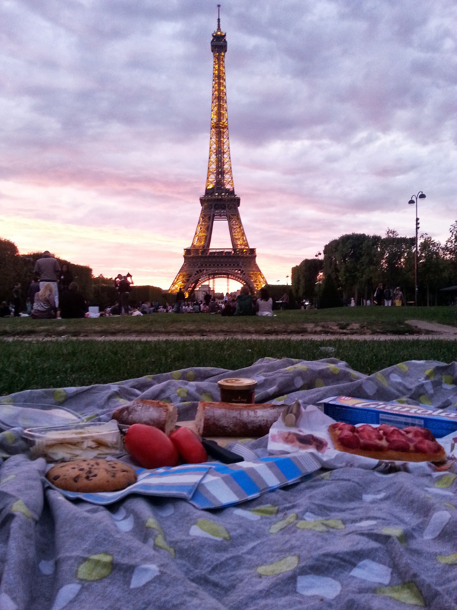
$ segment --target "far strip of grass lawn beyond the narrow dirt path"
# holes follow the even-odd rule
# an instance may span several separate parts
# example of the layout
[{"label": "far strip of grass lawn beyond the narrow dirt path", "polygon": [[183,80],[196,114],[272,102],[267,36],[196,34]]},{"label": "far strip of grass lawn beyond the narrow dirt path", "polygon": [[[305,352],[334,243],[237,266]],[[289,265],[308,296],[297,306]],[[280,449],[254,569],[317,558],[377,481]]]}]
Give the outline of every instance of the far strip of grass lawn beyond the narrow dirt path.
[{"label": "far strip of grass lawn beyond the narrow dirt path", "polygon": [[113,336],[169,334],[344,334],[417,333],[405,320],[426,320],[457,326],[457,307],[336,307],[278,311],[277,317],[222,318],[214,314],[152,314],[83,320],[0,318],[0,337],[7,336]]}]

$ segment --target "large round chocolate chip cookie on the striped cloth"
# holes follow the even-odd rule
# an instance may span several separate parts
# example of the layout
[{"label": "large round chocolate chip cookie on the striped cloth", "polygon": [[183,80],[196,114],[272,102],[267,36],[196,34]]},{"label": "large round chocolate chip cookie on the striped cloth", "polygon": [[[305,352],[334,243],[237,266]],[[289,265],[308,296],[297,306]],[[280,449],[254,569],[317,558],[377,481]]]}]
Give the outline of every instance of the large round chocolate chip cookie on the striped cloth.
[{"label": "large round chocolate chip cookie on the striped cloth", "polygon": [[49,468],[46,478],[68,492],[115,492],[136,483],[136,472],[115,460],[76,459]]}]

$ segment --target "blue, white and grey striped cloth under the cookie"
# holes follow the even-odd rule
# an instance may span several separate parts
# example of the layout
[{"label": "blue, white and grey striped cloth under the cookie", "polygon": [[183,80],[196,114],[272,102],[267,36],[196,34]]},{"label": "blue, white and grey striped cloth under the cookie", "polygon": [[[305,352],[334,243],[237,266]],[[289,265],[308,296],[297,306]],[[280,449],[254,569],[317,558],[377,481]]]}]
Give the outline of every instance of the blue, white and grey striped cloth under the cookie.
[{"label": "blue, white and grey striped cloth under the cookie", "polygon": [[[255,454],[254,454],[255,456]],[[319,470],[321,464],[304,451],[276,458],[261,458],[237,464],[185,464],[182,466],[136,470],[138,480],[118,492],[80,493],[58,489],[45,479],[48,487],[69,500],[91,504],[112,504],[130,493],[183,498],[200,509],[222,508],[257,498],[262,493],[300,481]]]}]

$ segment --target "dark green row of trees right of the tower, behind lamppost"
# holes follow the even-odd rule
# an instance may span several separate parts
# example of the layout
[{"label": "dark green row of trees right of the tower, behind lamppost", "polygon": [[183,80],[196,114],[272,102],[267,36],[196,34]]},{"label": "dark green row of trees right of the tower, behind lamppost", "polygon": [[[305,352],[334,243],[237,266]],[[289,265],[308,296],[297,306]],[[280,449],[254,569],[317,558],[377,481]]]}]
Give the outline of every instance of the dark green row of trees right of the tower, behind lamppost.
[{"label": "dark green row of trees right of the tower, behind lamppost", "polygon": [[[382,283],[384,288],[400,286],[405,300],[414,301],[414,242],[391,229],[385,237],[342,235],[327,243],[324,260],[305,259],[292,268],[292,290],[299,300],[313,303],[324,296],[321,307],[338,306],[351,298],[357,304],[363,299],[372,301]],[[420,236],[417,275],[420,305],[448,302],[449,297],[439,290],[457,284],[457,221],[445,245],[427,233]]]}]

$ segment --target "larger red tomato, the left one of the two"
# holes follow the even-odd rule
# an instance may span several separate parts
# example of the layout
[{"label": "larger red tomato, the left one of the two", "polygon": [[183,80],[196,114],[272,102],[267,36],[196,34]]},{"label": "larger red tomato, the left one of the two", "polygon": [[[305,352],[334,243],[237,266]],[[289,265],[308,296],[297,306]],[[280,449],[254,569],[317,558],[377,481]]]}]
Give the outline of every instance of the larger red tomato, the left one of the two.
[{"label": "larger red tomato, the left one of the two", "polygon": [[143,468],[175,466],[178,452],[171,440],[158,428],[134,423],[124,439],[127,451]]}]

